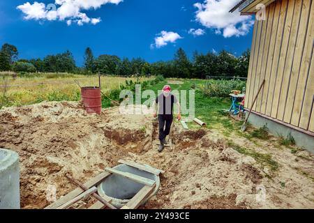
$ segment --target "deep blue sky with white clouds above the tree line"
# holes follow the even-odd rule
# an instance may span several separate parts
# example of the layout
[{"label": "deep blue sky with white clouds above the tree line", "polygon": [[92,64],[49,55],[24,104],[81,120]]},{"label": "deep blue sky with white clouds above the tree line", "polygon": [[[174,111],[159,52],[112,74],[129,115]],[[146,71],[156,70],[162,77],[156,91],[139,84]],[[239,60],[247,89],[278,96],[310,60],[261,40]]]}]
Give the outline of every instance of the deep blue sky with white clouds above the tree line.
[{"label": "deep blue sky with white clouds above the tree line", "polygon": [[[72,7],[66,5],[70,0],[37,1],[45,7],[56,3],[57,10]],[[253,18],[227,13],[239,0],[222,0],[223,5],[216,0],[91,0],[94,6],[74,1],[77,5],[83,1],[82,7],[75,5],[80,14],[65,8],[60,9],[62,15],[47,20],[47,11],[32,10],[34,1],[27,5],[27,0],[0,0],[0,45],[17,46],[20,59],[43,58],[69,49],[78,66],[82,66],[86,47],[95,56],[142,57],[149,62],[172,59],[179,47],[190,57],[195,50],[227,49],[239,55],[251,47]],[[156,44],[158,36],[161,45]]]}]

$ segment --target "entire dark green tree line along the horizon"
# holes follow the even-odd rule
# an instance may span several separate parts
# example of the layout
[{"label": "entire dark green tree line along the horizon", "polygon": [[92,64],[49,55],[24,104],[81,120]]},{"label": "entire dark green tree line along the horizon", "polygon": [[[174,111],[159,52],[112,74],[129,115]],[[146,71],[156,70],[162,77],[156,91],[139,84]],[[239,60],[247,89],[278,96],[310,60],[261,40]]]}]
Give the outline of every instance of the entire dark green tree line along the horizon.
[{"label": "entire dark green tree line along the horizon", "polygon": [[149,63],[141,58],[121,59],[119,56],[103,54],[95,57],[91,48],[84,52],[84,66],[75,65],[73,54],[47,55],[43,59],[18,59],[14,45],[4,44],[0,50],[0,70],[15,72],[71,72],[82,75],[103,74],[129,77],[132,75],[163,75],[163,77],[200,78],[206,76],[247,77],[250,51],[234,56],[226,50],[218,54],[194,52],[189,59],[184,49],[179,48],[170,61]]}]

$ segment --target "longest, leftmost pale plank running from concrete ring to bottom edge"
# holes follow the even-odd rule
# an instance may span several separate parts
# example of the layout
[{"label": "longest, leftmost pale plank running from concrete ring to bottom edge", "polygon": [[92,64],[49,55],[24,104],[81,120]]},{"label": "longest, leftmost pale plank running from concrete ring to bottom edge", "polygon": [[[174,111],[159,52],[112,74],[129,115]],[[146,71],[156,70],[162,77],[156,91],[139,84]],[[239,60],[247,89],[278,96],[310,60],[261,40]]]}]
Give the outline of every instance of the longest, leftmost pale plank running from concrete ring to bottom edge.
[{"label": "longest, leftmost pale plank running from concrete ring to bottom edge", "polygon": [[[103,171],[101,174],[98,174],[94,178],[91,178],[91,180],[87,181],[87,183],[84,183],[84,186],[90,188],[98,185],[100,181],[105,179],[107,176],[110,176],[110,173]],[[63,203],[66,203],[70,201],[71,199],[77,197],[78,195],[82,194],[84,190],[82,188],[77,187],[75,190],[71,191],[70,193],[66,194],[65,196],[61,197],[59,200],[55,201],[54,203],[51,203],[49,206],[45,207],[45,209],[56,209],[59,206],[61,206]]]}]

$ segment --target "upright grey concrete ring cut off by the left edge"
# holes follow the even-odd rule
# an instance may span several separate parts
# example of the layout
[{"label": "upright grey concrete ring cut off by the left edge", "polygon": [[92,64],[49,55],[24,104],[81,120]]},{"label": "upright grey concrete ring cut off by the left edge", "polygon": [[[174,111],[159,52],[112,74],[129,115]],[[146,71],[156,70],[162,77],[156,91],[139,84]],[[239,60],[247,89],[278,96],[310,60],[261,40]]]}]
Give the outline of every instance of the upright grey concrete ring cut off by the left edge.
[{"label": "upright grey concrete ring cut off by the left edge", "polygon": [[19,155],[0,148],[0,209],[20,209]]}]

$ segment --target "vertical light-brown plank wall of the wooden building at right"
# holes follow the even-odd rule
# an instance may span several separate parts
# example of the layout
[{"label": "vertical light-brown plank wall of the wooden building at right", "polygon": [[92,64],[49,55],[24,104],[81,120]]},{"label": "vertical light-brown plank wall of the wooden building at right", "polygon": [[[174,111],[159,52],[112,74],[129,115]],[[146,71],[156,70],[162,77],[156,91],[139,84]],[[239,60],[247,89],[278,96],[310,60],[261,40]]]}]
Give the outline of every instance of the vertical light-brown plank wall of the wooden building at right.
[{"label": "vertical light-brown plank wall of the wooden building at right", "polygon": [[314,132],[314,0],[277,0],[255,20],[246,108]]}]

